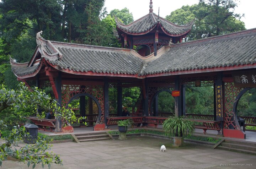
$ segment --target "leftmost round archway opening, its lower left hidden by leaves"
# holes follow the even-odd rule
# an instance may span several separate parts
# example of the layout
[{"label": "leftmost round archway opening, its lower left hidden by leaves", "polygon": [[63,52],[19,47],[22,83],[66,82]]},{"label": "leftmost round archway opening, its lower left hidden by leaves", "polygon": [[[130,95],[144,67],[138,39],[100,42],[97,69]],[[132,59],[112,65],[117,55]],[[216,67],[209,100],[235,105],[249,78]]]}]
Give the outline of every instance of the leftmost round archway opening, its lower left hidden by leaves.
[{"label": "leftmost round archway opening, its lower left hidden by leaves", "polygon": [[70,98],[69,102],[66,105],[66,108],[69,108],[70,104],[76,114],[87,117],[86,121],[88,125],[93,126],[100,121],[100,103],[91,94],[76,94],[75,96]]}]

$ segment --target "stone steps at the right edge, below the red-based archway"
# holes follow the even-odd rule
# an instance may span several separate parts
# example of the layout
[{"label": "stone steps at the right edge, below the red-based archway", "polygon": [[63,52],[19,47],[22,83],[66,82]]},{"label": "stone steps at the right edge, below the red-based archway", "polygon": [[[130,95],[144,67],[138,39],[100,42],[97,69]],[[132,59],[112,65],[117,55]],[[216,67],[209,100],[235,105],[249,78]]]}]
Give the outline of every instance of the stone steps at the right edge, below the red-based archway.
[{"label": "stone steps at the right edge, below the red-based archway", "polygon": [[217,148],[256,155],[256,142],[225,140]]}]

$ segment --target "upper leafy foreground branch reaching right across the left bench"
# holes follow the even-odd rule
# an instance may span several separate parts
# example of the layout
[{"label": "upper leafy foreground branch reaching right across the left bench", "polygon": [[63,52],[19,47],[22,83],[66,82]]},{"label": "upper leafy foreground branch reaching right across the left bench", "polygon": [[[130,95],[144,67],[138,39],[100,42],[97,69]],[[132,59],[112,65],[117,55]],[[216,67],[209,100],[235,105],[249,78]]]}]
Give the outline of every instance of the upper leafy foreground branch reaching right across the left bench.
[{"label": "upper leafy foreground branch reaching right across the left bench", "polygon": [[[0,86],[0,113],[5,109],[16,111],[21,118],[24,118],[24,109],[29,110],[31,115],[38,118],[44,118],[45,112],[52,111],[55,116],[65,119],[68,124],[84,119],[84,117],[76,118],[71,109],[60,107],[56,100],[51,99],[38,87],[29,89],[24,83],[18,84],[16,90],[8,89],[4,85]],[[38,109],[43,112],[37,113]]]}]

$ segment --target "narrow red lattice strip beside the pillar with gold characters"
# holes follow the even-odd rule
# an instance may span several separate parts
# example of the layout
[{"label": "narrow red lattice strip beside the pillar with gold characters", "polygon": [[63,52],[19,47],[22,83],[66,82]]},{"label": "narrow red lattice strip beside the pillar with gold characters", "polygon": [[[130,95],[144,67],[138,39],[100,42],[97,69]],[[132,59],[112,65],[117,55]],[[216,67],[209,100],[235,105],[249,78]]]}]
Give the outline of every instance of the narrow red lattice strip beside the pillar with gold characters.
[{"label": "narrow red lattice strip beside the pillar with gold characters", "polygon": [[241,88],[236,88],[234,83],[226,83],[225,84],[225,110],[224,110],[224,129],[234,128],[239,130],[238,125],[234,121],[234,112],[233,105],[235,102],[235,98],[241,91]]}]

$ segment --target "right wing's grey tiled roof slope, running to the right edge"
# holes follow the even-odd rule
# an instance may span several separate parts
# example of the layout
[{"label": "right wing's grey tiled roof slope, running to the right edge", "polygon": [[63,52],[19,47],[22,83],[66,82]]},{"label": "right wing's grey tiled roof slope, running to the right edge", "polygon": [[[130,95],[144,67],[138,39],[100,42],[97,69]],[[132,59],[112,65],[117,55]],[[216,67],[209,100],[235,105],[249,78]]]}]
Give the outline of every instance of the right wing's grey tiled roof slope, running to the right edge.
[{"label": "right wing's grey tiled roof slope, running to the right edge", "polygon": [[144,74],[206,69],[256,62],[256,31],[174,44],[147,64]]}]

